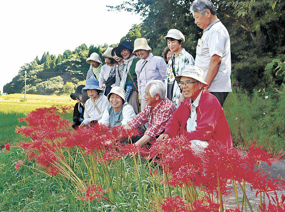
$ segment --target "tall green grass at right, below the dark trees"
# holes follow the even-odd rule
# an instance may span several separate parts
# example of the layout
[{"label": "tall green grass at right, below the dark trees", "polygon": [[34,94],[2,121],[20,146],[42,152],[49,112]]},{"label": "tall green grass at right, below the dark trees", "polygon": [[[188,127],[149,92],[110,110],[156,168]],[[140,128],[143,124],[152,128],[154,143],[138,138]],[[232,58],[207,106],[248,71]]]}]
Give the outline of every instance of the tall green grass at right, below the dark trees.
[{"label": "tall green grass at right, below the dark trees", "polygon": [[236,145],[256,140],[265,149],[285,148],[284,91],[255,90],[251,96],[239,89],[229,93],[224,110]]}]

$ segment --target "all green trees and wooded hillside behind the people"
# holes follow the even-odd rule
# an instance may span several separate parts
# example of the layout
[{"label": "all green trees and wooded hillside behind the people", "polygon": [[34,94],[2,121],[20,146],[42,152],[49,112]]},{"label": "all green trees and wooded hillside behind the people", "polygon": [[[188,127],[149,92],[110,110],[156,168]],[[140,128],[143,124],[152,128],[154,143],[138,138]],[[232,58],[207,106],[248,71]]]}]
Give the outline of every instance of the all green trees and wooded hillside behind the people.
[{"label": "all green trees and wooded hillside behind the people", "polygon": [[[189,5],[192,0],[128,0],[110,10],[127,10],[141,14],[145,19],[121,38],[132,43],[145,37],[154,55],[162,55],[166,46],[163,37],[171,28],[182,31],[186,37],[183,47],[193,57],[202,30],[196,26]],[[278,89],[285,78],[285,1],[213,1],[218,18],[228,29],[231,39],[233,86],[253,89]],[[105,48],[108,44],[105,44]],[[82,44],[63,55],[44,54],[23,65],[12,82],[4,86],[7,93],[23,92],[24,71],[27,70],[27,93],[61,93],[85,79],[89,65],[85,62],[93,51],[102,47],[87,48]]]}]

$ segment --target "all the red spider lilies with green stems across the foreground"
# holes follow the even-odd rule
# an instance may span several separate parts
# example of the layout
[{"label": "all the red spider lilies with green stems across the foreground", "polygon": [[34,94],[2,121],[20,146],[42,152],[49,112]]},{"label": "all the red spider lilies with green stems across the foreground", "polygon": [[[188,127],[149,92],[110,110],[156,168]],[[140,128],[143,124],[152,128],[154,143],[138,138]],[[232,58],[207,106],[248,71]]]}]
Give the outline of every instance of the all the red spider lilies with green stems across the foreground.
[{"label": "all the red spider lilies with green stems across the foreground", "polygon": [[[266,201],[265,199],[262,201],[260,196],[261,211],[284,209],[284,196],[280,200],[276,196],[275,199],[272,199],[273,203],[270,199],[272,193],[284,190],[284,180],[281,178],[272,179],[268,172],[260,168],[262,161],[271,165],[282,160],[284,158],[282,151],[271,154],[262,147],[257,147],[254,142],[250,142],[246,151],[242,151],[237,148],[228,149],[221,142],[211,141],[204,151],[195,152],[191,148],[191,141],[183,136],[169,140],[154,140],[150,148],[137,147],[131,142],[132,136],[140,134],[135,129],[128,130],[122,126],[109,128],[105,125],[95,124],[73,131],[66,119],[60,119],[59,111],[63,111],[63,109],[52,107],[32,111],[26,118],[20,119],[20,121],[27,122],[28,126],[18,127],[16,131],[30,138],[29,142],[20,143],[20,147],[26,151],[27,157],[34,160],[50,175],[61,175],[73,180],[72,182],[82,193],[79,196],[81,200],[103,200],[106,199],[103,197],[104,193],[109,193],[111,198],[112,192],[114,193],[111,177],[108,178],[107,174],[104,175],[105,183],[102,184],[106,185],[108,190],[103,190],[97,181],[97,176],[92,173],[100,168],[105,168],[104,173],[109,173],[110,166],[108,164],[116,165],[116,161],[123,160],[123,156],[136,153],[151,163],[157,164],[167,176],[165,178],[157,177],[158,171],[155,169],[150,170],[152,177],[183,191],[182,197],[173,195],[174,197],[166,197],[163,202],[159,201],[161,198],[155,197],[157,204],[154,205],[157,205],[157,211],[210,212],[223,210],[222,196],[233,191],[236,193],[237,186],[243,190],[242,184],[249,184],[256,196],[261,193],[264,196],[266,194]],[[6,149],[9,150],[9,148],[10,146],[7,144]],[[89,169],[90,178],[88,181],[84,177],[79,179],[73,168],[70,168],[71,165],[68,164],[68,161],[75,163],[77,158],[76,154],[72,157],[72,150],[76,150],[76,154],[77,150],[80,152],[84,164]],[[66,159],[67,157],[69,160]],[[97,166],[93,161],[99,165]],[[19,161],[15,167],[19,169],[22,163]],[[137,169],[136,162],[134,164]],[[68,171],[65,169],[67,166]],[[78,169],[78,173],[81,173],[80,169]],[[137,179],[139,182],[139,176]],[[93,184],[88,184],[86,188],[84,186],[86,182]],[[140,184],[138,184],[139,186]],[[197,189],[206,192],[208,196],[200,197]],[[247,202],[250,207],[245,191],[243,190],[243,192],[244,202]],[[141,193],[140,196],[142,196]],[[235,210],[227,209],[225,211],[238,212],[240,207],[237,203]]]}]

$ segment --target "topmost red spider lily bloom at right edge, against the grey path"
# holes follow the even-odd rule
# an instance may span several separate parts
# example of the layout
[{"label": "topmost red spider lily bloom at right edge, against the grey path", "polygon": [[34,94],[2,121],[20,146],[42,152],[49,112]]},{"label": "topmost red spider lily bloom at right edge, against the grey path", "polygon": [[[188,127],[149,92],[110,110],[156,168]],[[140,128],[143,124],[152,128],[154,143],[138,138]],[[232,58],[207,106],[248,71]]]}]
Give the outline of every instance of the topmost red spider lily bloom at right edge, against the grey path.
[{"label": "topmost red spider lily bloom at right edge, against the grey path", "polygon": [[284,158],[284,151],[280,151],[279,154],[272,155],[271,152],[266,152],[262,149],[262,146],[257,147],[255,142],[250,142],[249,146],[247,146],[247,156],[249,157],[250,164],[256,164],[258,162],[265,161],[269,166],[272,163],[276,163],[281,161]]}]

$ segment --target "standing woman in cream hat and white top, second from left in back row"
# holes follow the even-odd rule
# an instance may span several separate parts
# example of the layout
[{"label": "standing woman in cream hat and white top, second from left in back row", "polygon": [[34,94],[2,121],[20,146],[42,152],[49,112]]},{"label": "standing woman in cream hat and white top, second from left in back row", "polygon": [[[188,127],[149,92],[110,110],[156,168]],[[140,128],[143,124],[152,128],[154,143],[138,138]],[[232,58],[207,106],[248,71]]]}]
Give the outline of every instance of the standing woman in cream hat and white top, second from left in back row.
[{"label": "standing woman in cream hat and white top, second from left in back row", "polygon": [[109,94],[111,88],[115,86],[116,81],[115,59],[111,55],[112,49],[112,47],[108,47],[103,52],[102,56],[106,64],[102,66],[99,74],[99,86],[106,87],[106,96]]}]

